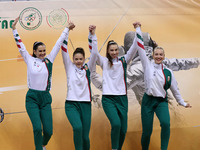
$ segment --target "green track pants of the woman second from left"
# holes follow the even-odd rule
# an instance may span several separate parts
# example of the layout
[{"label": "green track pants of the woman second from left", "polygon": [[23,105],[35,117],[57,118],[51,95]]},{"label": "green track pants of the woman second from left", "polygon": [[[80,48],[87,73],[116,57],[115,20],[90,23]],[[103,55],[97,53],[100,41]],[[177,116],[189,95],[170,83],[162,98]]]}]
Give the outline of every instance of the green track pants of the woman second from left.
[{"label": "green track pants of the woman second from left", "polygon": [[72,125],[74,133],[74,145],[76,150],[90,149],[90,125],[91,103],[90,102],[65,102],[65,113]]}]

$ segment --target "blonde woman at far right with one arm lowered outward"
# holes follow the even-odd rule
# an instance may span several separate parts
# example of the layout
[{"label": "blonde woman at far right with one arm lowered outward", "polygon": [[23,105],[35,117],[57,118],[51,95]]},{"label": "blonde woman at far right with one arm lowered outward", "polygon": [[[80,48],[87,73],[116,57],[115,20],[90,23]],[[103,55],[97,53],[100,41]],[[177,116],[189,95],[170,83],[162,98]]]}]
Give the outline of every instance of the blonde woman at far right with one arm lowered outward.
[{"label": "blonde woman at far right with one arm lowered outward", "polygon": [[168,108],[167,90],[170,88],[179,105],[190,108],[180,95],[173,72],[163,64],[165,52],[162,47],[155,47],[153,60],[150,61],[144,50],[144,42],[140,29],[141,24],[136,23],[136,36],[138,53],[144,69],[145,94],[142,99],[142,150],[149,149],[150,137],[153,129],[154,113],[161,126],[161,150],[167,150],[170,137],[170,116]]}]

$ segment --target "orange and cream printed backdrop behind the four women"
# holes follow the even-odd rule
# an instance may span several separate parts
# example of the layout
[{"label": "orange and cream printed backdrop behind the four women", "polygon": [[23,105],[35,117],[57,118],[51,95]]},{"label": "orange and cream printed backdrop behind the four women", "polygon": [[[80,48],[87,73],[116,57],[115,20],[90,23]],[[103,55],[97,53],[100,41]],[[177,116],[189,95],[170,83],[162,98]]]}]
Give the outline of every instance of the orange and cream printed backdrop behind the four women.
[{"label": "orange and cream printed backdrop behind the four women", "polygon": [[[69,53],[73,47],[83,47],[88,52],[88,25],[97,26],[98,48],[105,56],[107,37],[123,45],[124,35],[134,31],[132,23],[140,21],[142,31],[149,32],[157,43],[164,47],[167,58],[200,57],[200,2],[198,0],[63,0],[63,1],[19,1],[0,2],[0,20],[13,20],[27,8],[37,8],[43,15],[41,26],[34,30],[25,30],[17,25],[18,32],[29,53],[32,44],[43,41],[47,53],[55,44],[62,29],[48,26],[46,17],[54,9],[64,8],[76,27],[70,31]],[[2,29],[0,24],[0,108],[5,118],[0,123],[1,150],[33,150],[32,125],[25,112],[25,95],[27,92],[26,65],[20,57],[12,30]],[[73,46],[72,46],[73,45]],[[101,74],[101,69],[97,68]],[[191,105],[191,109],[177,106],[173,100],[170,107],[171,136],[169,150],[200,149],[200,69],[175,72],[182,97]],[[94,94],[101,95],[94,86]],[[53,136],[47,146],[48,150],[73,150],[72,127],[64,111],[66,97],[66,75],[61,53],[58,54],[53,66],[52,89],[53,97]],[[128,90],[129,111],[128,131],[123,150],[141,149],[141,115],[133,91]],[[103,109],[92,105],[92,124],[90,131],[91,150],[111,149],[110,124]],[[157,117],[151,137],[150,150],[160,149],[160,125]]]}]

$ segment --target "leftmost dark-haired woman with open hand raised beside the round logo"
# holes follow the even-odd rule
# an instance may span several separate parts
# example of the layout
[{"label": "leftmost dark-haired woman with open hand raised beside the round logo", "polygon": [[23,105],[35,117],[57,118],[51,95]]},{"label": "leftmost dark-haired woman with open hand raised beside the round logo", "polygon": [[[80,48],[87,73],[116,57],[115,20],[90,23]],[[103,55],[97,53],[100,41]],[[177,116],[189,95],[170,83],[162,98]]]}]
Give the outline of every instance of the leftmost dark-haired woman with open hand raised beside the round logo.
[{"label": "leftmost dark-haired woman with open hand raised beside the round logo", "polygon": [[31,56],[16,30],[18,20],[19,17],[15,19],[12,29],[19,52],[27,64],[29,90],[26,94],[26,110],[33,125],[35,149],[46,150],[45,146],[53,133],[52,98],[49,93],[51,89],[52,65],[61,44],[69,30],[74,28],[74,24],[68,23],[49,55],[46,56],[46,46],[44,43],[35,42],[33,44],[33,56]]}]

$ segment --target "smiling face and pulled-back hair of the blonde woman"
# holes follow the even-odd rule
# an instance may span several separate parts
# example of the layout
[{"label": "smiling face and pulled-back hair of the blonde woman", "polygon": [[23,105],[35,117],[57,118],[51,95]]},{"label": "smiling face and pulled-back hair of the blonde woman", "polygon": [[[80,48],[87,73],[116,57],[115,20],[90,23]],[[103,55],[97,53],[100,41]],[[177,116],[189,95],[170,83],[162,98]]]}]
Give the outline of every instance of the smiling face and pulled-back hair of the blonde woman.
[{"label": "smiling face and pulled-back hair of the blonde woman", "polygon": [[153,59],[156,64],[161,64],[162,61],[165,59],[165,53],[163,48],[157,47],[153,51]]}]

